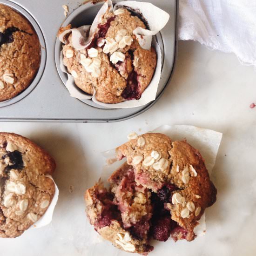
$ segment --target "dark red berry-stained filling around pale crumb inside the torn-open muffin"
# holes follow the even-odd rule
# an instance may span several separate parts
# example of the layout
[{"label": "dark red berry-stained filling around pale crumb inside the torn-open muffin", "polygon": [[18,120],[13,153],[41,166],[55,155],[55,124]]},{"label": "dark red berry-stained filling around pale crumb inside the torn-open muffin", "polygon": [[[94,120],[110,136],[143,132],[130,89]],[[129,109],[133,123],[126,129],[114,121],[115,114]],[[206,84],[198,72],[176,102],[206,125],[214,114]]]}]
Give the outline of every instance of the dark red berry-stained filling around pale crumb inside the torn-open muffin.
[{"label": "dark red berry-stained filling around pale crumb inside the torn-open muffin", "polygon": [[[119,179],[115,177],[118,186],[115,187],[115,195],[104,190],[98,193],[97,199],[103,203],[103,211],[95,225],[96,229],[106,227],[111,224],[112,220],[121,223],[123,229],[129,231],[130,235],[140,241],[146,241],[149,236],[158,241],[165,242],[171,236],[175,242],[180,239],[188,238],[188,231],[180,227],[177,222],[173,221],[168,208],[165,208],[168,202],[171,202],[172,192],[177,190],[174,184],[166,184],[156,193],[151,191],[151,206],[148,214],[143,216],[140,221],[124,221],[123,213],[130,211],[136,192],[146,193],[148,190],[135,182],[135,174],[132,168],[128,169]],[[127,216],[127,215],[126,215]],[[148,245],[148,251],[153,247]]]}]

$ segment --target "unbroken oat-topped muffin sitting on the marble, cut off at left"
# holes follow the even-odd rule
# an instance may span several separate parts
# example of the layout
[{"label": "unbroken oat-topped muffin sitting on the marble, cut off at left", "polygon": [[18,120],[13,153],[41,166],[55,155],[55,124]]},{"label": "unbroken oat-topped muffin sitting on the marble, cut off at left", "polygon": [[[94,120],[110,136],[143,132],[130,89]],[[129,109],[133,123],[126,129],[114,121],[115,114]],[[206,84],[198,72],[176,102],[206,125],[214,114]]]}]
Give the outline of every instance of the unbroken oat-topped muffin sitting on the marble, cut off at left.
[{"label": "unbroken oat-topped muffin sitting on the marble, cut off at left", "polygon": [[54,192],[54,159],[25,137],[0,132],[0,237],[20,236],[45,213]]}]

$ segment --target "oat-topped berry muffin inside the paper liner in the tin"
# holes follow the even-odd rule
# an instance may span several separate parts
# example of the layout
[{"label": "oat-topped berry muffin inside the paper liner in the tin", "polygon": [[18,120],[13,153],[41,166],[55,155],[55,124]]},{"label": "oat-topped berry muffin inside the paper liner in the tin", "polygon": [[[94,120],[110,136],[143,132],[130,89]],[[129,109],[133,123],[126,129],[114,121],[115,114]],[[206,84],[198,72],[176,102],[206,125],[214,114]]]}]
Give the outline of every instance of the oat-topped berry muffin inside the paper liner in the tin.
[{"label": "oat-topped berry muffin inside the paper liner in the tin", "polygon": [[96,99],[104,103],[140,99],[155,72],[156,53],[153,47],[140,47],[133,34],[137,27],[146,28],[139,17],[121,8],[102,16],[85,49],[75,50],[67,34],[63,63],[75,84],[91,95],[95,89]]}]

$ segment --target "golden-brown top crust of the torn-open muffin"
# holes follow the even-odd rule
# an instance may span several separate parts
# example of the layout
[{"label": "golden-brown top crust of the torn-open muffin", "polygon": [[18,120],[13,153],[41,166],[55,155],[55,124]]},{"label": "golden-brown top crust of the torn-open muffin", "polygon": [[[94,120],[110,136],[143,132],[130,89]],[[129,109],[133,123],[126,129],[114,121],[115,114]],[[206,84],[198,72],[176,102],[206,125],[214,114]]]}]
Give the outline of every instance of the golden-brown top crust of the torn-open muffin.
[{"label": "golden-brown top crust of the torn-open muffin", "polygon": [[[138,146],[141,138],[145,141],[142,147]],[[143,164],[143,159],[150,157],[153,150],[160,153],[159,161],[166,160],[165,168],[156,170],[154,164],[150,166]],[[176,189],[172,191],[172,195],[179,193],[185,198],[185,202],[168,203],[167,207],[171,211],[172,219],[189,232],[193,232],[204,209],[216,202],[217,191],[210,181],[202,155],[186,141],[172,142],[166,135],[149,133],[138,136],[116,148],[116,154],[118,159],[124,156],[127,158],[127,163],[134,167],[136,182],[142,186],[157,192],[165,184],[175,185]],[[143,158],[140,163],[134,164],[133,159],[137,155]],[[189,212],[189,217],[182,218],[181,212],[187,209],[188,202],[193,202],[195,209],[199,211],[201,208],[201,210],[195,216],[194,209],[194,213]]]}]

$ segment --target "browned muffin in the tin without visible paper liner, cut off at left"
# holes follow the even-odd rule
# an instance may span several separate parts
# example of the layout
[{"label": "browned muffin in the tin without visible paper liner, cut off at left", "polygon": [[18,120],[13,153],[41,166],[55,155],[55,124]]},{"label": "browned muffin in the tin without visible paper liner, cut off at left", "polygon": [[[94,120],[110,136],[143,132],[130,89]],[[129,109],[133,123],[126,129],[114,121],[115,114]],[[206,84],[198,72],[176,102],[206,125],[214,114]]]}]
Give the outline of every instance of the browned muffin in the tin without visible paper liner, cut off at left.
[{"label": "browned muffin in the tin without visible paper liner, cut off at left", "polygon": [[0,4],[0,101],[13,98],[33,81],[40,65],[40,43],[30,22]]}]

